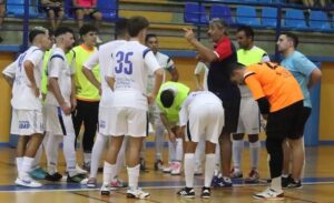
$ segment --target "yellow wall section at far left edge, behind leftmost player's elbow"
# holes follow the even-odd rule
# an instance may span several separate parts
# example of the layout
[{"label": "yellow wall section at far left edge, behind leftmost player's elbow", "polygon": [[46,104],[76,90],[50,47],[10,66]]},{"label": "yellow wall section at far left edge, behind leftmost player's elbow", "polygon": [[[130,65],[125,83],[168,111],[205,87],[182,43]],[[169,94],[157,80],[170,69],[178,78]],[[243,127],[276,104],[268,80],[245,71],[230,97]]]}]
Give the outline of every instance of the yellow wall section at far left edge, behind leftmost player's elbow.
[{"label": "yellow wall section at far left edge, behind leftmost player's elbow", "polygon": [[[0,53],[0,71],[13,61],[13,53]],[[3,77],[0,77],[0,142],[9,142],[9,128],[10,128],[10,116],[11,116],[11,108],[10,108],[10,98],[11,98],[11,89],[7,84]]]}]

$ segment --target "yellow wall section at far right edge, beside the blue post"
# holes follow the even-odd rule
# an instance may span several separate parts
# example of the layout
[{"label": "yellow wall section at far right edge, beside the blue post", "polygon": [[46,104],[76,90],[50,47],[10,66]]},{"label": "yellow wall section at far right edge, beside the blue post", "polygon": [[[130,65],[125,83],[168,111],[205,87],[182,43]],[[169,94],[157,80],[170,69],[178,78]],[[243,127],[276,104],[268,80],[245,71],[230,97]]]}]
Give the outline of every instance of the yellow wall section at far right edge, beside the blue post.
[{"label": "yellow wall section at far right edge, beside the blue post", "polygon": [[334,140],[334,63],[322,63],[320,140]]}]

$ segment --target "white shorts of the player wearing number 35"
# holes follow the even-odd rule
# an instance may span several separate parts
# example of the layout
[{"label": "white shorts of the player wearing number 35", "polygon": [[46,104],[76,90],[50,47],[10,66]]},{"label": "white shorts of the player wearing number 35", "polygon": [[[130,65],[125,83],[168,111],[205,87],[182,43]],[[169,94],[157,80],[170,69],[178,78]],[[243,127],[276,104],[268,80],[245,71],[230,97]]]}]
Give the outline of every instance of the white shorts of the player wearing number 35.
[{"label": "white shorts of the player wearing number 35", "polygon": [[135,108],[112,108],[110,124],[112,136],[146,136],[147,111]]}]

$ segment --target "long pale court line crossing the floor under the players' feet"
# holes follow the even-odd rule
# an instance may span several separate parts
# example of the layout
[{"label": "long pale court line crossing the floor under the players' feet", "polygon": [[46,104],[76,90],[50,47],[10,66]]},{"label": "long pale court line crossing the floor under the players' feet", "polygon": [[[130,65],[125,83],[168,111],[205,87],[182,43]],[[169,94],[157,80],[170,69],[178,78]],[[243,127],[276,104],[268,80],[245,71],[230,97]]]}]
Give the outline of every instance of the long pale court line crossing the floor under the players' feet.
[{"label": "long pale court line crossing the floor under the players' feet", "polygon": [[[303,183],[303,185],[317,185],[317,184],[334,184],[334,182],[306,182]],[[267,184],[234,184],[233,187],[244,187],[244,186],[264,186]],[[170,185],[170,186],[143,186],[141,189],[149,189],[149,190],[160,190],[160,189],[181,189],[184,187],[184,185]],[[195,186],[195,189],[199,189],[202,186],[197,185]],[[125,189],[125,187],[124,187]],[[219,187],[217,187],[219,189]],[[224,189],[224,187],[222,187]],[[229,189],[229,187],[226,187]],[[99,191],[100,189],[60,189],[60,190],[47,190],[47,189],[39,189],[39,190],[33,190],[33,189],[29,189],[28,191],[0,191],[0,193],[35,193],[35,192],[80,192],[80,191]],[[120,189],[122,190],[122,189]],[[118,191],[118,190],[117,190]],[[111,191],[112,193],[112,191]]]}]

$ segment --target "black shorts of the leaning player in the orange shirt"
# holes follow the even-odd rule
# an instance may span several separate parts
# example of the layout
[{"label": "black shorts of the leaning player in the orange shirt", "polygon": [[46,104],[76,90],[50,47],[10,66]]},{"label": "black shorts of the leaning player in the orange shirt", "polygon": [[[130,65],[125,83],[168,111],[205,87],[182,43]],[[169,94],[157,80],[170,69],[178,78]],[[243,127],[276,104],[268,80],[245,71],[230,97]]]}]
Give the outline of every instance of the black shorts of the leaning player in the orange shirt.
[{"label": "black shorts of the leaning player in the orange shirt", "polygon": [[304,134],[304,126],[310,114],[311,109],[304,108],[303,101],[269,113],[266,134],[274,139],[299,139]]}]

